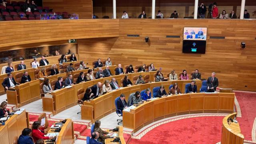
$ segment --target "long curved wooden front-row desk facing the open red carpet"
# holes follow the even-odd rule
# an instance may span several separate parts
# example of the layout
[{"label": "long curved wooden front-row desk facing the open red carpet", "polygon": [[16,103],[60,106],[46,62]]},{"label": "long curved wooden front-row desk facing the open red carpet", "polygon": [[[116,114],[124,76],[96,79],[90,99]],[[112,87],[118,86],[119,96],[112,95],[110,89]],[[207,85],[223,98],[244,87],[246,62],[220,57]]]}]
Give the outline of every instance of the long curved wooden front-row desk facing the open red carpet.
[{"label": "long curved wooden front-row desk facing the open red carpet", "polygon": [[234,93],[178,94],[144,102],[140,106],[123,111],[123,126],[137,132],[144,126],[182,114],[232,113]]}]

